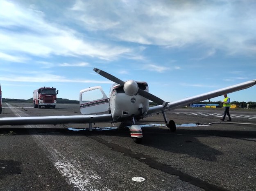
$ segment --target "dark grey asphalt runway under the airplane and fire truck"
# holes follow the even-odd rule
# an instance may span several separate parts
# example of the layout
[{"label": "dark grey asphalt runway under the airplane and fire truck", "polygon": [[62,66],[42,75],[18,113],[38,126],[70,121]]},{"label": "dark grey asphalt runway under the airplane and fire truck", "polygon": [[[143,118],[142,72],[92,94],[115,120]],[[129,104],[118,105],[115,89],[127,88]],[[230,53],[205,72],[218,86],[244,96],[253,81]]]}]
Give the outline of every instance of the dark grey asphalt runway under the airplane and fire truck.
[{"label": "dark grey asphalt runway under the airplane and fire truck", "polygon": [[[220,121],[222,113],[167,111],[175,133],[162,114],[145,118],[137,122],[142,144],[120,124],[95,124],[92,132],[83,130],[88,124],[2,126],[0,191],[256,190],[256,110],[230,109],[231,122]],[[79,114],[75,104],[10,102],[0,117]]]}]

